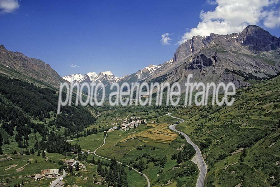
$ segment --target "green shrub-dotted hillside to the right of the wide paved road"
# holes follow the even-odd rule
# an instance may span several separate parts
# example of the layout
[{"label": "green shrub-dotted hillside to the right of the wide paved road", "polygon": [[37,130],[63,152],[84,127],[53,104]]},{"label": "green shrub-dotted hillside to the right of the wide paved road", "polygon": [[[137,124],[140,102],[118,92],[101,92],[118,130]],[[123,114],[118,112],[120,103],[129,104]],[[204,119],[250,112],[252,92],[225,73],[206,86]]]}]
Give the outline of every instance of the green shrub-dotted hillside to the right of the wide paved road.
[{"label": "green shrub-dotted hillside to the right of the wide paved road", "polygon": [[203,150],[205,186],[279,186],[280,77],[240,89],[231,107],[185,107],[178,129]]}]

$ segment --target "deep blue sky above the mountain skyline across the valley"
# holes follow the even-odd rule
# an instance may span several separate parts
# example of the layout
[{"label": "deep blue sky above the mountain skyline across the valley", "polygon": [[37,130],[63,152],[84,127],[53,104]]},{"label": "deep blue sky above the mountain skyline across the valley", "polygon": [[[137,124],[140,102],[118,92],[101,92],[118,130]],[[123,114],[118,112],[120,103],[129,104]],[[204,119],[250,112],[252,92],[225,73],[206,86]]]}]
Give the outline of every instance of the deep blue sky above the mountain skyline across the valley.
[{"label": "deep blue sky above the mountain skyline across the valley", "polygon": [[[254,17],[246,20],[248,16],[244,15],[237,18],[237,25],[234,17],[215,11],[218,6],[230,5],[212,0],[0,0],[0,44],[49,63],[61,76],[110,70],[121,77],[150,63],[169,60],[180,41],[190,35],[236,31],[248,23],[258,23],[271,34],[280,35],[279,24],[274,21],[279,18],[279,4],[257,4],[262,8],[261,16],[254,15],[257,22]],[[219,26],[212,26],[208,17],[212,21],[225,19],[228,29],[217,30]],[[199,22],[209,28],[201,29]],[[170,40],[163,43],[161,35],[165,33]]]}]

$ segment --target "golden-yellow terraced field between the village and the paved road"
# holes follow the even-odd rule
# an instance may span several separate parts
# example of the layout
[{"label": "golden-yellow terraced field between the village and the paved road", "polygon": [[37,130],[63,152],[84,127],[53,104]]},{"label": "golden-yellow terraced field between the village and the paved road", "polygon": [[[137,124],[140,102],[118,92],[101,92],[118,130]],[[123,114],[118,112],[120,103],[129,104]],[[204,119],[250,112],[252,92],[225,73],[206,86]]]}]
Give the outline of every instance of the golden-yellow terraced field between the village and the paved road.
[{"label": "golden-yellow terraced field between the village and the paved road", "polygon": [[[127,138],[125,138],[124,140],[122,140],[122,142],[125,140],[128,140],[132,137],[142,140],[141,137],[143,137],[143,138],[150,138],[152,140],[156,140],[156,141],[152,141],[152,142],[170,143],[171,141],[175,140],[175,138],[178,136],[177,134],[171,132],[168,129],[167,123],[147,124],[147,126],[152,127],[152,129],[147,129],[143,132],[132,134],[132,135],[128,136]],[[144,140],[142,140],[142,141],[149,142],[149,141],[144,141]]]}]

